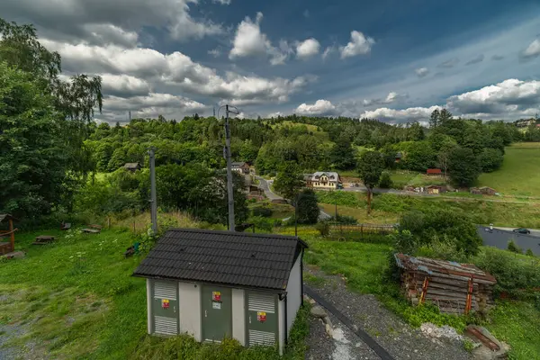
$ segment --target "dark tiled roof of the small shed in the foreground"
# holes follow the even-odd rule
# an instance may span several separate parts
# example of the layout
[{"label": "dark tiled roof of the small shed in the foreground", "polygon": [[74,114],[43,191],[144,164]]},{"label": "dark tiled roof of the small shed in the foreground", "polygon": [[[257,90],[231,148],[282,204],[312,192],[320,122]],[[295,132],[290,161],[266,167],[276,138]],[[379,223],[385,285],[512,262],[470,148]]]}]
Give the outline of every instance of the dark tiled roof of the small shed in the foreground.
[{"label": "dark tiled roof of the small shed in the foreground", "polygon": [[135,276],[284,290],[300,239],[205,229],[171,229]]}]

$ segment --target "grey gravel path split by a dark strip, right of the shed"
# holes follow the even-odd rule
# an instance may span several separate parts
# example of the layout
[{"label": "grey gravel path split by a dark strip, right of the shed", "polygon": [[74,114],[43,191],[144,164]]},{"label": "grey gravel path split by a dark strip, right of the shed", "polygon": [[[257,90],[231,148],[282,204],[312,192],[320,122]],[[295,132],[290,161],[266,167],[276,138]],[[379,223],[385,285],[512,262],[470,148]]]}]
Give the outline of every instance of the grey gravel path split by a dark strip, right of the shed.
[{"label": "grey gravel path split by a dark strip, right of the shed", "polygon": [[[355,321],[396,360],[465,360],[472,356],[464,350],[459,341],[428,338],[419,329],[413,329],[397,315],[383,307],[374,295],[350,292],[343,280],[336,275],[326,275],[313,268],[305,272],[324,278],[324,284],[310,284],[311,288],[326,301]],[[311,319],[311,334],[308,339],[310,350],[306,359],[378,359],[369,347],[334,317],[335,329],[343,331],[348,343],[343,347],[334,334],[334,339],[326,334],[320,320]],[[339,331],[338,331],[339,332]],[[360,343],[360,344],[358,344]],[[353,346],[354,344],[354,346]],[[344,350],[347,349],[347,350]]]}]

